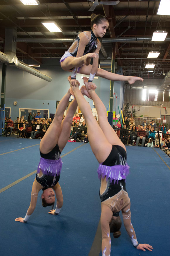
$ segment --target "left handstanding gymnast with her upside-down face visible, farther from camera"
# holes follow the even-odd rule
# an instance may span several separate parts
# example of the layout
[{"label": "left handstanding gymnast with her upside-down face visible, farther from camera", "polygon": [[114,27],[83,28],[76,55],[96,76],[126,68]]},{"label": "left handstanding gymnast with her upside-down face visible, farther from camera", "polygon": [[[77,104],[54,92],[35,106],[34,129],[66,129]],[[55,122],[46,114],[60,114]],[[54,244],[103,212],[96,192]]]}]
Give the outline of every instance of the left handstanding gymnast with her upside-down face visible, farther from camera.
[{"label": "left handstanding gymnast with her upside-down face visible, farther from camera", "polygon": [[33,213],[37,203],[38,192],[42,189],[43,207],[54,205],[55,194],[57,197],[57,205],[55,210],[50,210],[50,214],[59,214],[63,205],[63,196],[60,184],[60,172],[62,168],[62,161],[60,154],[64,149],[71,132],[71,123],[74,113],[77,109],[77,101],[73,99],[67,109],[67,114],[63,114],[69,103],[71,96],[71,89],[64,95],[57,106],[56,113],[52,124],[45,133],[40,142],[40,163],[38,165],[37,174],[33,182],[31,191],[31,202],[24,218],[16,218],[15,221],[27,222],[30,215]]}]

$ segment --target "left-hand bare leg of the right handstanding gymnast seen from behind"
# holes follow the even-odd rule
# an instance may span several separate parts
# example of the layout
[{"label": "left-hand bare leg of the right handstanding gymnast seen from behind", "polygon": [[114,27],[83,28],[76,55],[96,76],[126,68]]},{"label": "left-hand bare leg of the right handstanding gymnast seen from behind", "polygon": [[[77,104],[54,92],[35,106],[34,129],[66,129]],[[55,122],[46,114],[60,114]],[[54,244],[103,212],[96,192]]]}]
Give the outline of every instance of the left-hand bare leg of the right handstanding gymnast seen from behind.
[{"label": "left-hand bare leg of the right handstanding gymnast seen from behind", "polygon": [[102,163],[106,160],[108,155],[111,152],[112,145],[106,139],[103,131],[100,126],[94,119],[89,103],[84,99],[82,93],[79,90],[78,85],[73,86],[72,90],[76,97],[77,103],[81,112],[84,115],[86,120],[87,130],[88,130],[88,139],[91,145],[91,149],[98,160],[99,163]]}]

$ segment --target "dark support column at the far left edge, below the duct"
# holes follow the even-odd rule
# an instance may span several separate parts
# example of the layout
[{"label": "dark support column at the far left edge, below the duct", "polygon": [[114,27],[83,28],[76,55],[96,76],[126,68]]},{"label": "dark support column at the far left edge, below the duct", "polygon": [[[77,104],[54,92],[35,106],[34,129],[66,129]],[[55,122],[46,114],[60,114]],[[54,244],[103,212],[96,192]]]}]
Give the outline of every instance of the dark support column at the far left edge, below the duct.
[{"label": "dark support column at the far left edge, below the duct", "polygon": [[5,91],[6,91],[6,63],[2,64],[1,109],[0,109],[0,136],[3,133],[5,117]]}]

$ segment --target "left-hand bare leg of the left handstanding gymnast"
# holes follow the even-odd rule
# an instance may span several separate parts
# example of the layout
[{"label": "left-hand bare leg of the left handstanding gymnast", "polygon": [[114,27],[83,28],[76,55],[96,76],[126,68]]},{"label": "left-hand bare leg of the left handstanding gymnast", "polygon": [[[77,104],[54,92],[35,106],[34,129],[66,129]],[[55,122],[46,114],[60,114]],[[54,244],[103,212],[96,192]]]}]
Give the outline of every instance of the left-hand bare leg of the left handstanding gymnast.
[{"label": "left-hand bare leg of the left handstanding gymnast", "polygon": [[62,125],[62,117],[65,109],[67,108],[70,96],[71,93],[69,89],[69,91],[64,95],[64,97],[58,104],[54,120],[52,121],[52,124],[50,124],[50,127],[48,128],[47,132],[45,133],[43,139],[40,142],[40,151],[43,154],[49,153],[58,142]]}]

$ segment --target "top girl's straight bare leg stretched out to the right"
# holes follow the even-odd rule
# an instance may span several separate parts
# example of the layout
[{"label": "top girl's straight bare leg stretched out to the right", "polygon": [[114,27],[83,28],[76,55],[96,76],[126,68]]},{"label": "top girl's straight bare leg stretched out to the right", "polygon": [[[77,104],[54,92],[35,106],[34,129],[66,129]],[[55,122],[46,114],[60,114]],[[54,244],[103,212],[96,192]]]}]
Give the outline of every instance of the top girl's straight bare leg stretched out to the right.
[{"label": "top girl's straight bare leg stretched out to the right", "polygon": [[[91,72],[91,68],[92,68],[92,65],[83,66],[79,69],[79,73],[89,75]],[[103,77],[112,81],[127,81],[129,84],[133,84],[135,81],[143,82],[143,79],[141,77],[122,76],[122,75],[108,72],[104,69],[97,69],[96,76]]]}]

